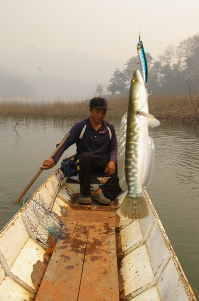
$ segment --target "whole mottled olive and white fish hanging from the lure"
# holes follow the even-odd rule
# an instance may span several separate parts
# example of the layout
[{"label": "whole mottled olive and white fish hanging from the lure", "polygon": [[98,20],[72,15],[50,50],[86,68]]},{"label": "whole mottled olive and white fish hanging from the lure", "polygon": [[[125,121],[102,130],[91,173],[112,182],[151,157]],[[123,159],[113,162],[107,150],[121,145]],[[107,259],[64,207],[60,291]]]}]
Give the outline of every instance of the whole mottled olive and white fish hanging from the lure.
[{"label": "whole mottled olive and white fish hanging from the lure", "polygon": [[154,159],[154,142],[148,137],[148,126],[159,124],[148,113],[148,93],[136,68],[130,83],[128,109],[121,118],[117,147],[119,185],[123,191],[127,190],[119,211],[129,219],[144,218],[148,214],[143,187],[150,181]]}]

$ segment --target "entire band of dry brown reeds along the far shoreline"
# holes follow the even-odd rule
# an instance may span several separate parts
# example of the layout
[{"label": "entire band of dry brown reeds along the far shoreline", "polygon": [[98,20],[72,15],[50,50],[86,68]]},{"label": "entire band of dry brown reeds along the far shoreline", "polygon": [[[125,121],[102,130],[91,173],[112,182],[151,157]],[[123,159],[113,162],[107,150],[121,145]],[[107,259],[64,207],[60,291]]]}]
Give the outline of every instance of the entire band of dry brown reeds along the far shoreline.
[{"label": "entire band of dry brown reeds along the far shoreline", "polygon": [[[127,110],[128,95],[104,96],[108,100],[106,120],[122,117]],[[148,96],[149,112],[159,120],[183,122],[188,125],[199,124],[199,96],[185,95],[179,97]],[[0,118],[60,118],[64,123],[67,118],[81,120],[89,115],[89,99],[82,101],[38,101],[35,99],[0,99]]]}]

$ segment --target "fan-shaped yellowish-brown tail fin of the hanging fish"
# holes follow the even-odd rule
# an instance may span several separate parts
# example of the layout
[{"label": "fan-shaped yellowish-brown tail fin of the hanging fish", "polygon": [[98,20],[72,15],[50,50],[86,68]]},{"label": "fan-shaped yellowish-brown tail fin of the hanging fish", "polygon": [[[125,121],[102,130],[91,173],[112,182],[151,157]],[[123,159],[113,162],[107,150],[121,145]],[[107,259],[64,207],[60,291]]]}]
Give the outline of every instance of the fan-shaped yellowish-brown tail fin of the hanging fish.
[{"label": "fan-shaped yellowish-brown tail fin of the hanging fish", "polygon": [[119,211],[129,219],[144,218],[148,215],[146,199],[144,196],[131,197],[127,194],[119,206]]}]

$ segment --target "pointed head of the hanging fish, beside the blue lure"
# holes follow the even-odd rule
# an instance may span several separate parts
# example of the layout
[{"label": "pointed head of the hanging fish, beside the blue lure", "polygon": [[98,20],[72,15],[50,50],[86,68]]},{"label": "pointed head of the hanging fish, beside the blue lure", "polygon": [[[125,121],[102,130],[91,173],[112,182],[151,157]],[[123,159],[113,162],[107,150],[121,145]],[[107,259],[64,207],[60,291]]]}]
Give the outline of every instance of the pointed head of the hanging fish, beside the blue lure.
[{"label": "pointed head of the hanging fish, beside the blue lure", "polygon": [[135,69],[130,83],[128,106],[130,106],[131,110],[136,113],[138,110],[143,108],[146,102],[147,93],[143,77],[139,69]]}]

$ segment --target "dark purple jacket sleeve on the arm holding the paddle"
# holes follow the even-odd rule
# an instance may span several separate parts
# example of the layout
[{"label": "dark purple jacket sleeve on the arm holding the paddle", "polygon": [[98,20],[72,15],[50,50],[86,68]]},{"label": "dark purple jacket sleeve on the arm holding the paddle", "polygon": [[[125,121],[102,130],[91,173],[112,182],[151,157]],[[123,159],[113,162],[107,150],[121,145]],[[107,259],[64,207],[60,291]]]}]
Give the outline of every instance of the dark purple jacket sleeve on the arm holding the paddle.
[{"label": "dark purple jacket sleeve on the arm holding the paddle", "polygon": [[[53,161],[55,164],[57,164],[57,162],[59,161],[59,159],[61,158],[61,156],[63,155],[64,151],[71,146],[72,144],[74,144],[80,135],[80,131],[81,131],[81,122],[77,122],[75,123],[71,129],[69,130],[69,138],[65,141],[65,143],[63,144],[63,146],[61,146],[61,148],[58,150],[58,152],[54,155],[54,157],[52,157]],[[56,145],[58,146],[58,144]]]}]

